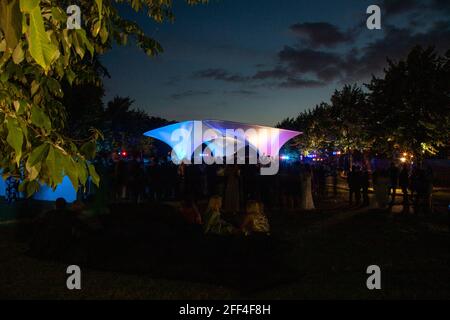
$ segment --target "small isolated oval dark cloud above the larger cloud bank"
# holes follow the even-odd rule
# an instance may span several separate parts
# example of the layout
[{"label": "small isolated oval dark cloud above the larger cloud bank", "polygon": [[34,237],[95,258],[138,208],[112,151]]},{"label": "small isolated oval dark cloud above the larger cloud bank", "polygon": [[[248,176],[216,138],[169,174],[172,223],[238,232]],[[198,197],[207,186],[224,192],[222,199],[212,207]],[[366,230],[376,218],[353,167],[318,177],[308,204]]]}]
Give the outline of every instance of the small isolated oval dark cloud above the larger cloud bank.
[{"label": "small isolated oval dark cloud above the larger cloud bank", "polygon": [[290,26],[290,29],[311,48],[331,48],[355,39],[353,32],[342,32],[337,26],[327,22],[297,23]]}]

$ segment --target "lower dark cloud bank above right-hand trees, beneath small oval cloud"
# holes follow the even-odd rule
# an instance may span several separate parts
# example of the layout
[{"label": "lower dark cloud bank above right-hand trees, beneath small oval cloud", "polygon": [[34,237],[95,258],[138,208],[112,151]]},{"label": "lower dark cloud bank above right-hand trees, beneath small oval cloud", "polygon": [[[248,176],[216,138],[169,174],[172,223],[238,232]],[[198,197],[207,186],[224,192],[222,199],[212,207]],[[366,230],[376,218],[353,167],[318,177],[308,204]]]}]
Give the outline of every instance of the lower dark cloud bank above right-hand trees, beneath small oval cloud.
[{"label": "lower dark cloud bank above right-hand trees, beneath small oval cloud", "polygon": [[[440,0],[435,0],[440,1]],[[404,10],[408,8],[403,4]],[[394,7],[399,12],[401,6]],[[282,87],[314,87],[332,82],[355,82],[379,74],[387,59],[404,58],[416,45],[434,46],[440,53],[450,49],[448,19],[428,21],[421,29],[400,28],[386,24],[384,37],[340,50],[285,45],[278,52],[276,67],[257,72],[254,78],[280,80]],[[427,27],[428,26],[428,27]],[[307,80],[305,80],[307,79]]]}]

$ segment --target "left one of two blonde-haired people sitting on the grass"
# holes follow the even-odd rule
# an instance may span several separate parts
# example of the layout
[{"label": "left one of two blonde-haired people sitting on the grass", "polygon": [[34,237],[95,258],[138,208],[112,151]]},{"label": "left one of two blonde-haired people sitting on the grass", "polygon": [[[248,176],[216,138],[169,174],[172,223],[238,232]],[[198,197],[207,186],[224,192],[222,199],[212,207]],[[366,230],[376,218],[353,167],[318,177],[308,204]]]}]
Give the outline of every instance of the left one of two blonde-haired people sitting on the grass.
[{"label": "left one of two blonde-haired people sitting on the grass", "polygon": [[203,231],[205,234],[227,235],[235,233],[235,228],[221,217],[222,197],[212,196],[208,209],[203,216]]}]

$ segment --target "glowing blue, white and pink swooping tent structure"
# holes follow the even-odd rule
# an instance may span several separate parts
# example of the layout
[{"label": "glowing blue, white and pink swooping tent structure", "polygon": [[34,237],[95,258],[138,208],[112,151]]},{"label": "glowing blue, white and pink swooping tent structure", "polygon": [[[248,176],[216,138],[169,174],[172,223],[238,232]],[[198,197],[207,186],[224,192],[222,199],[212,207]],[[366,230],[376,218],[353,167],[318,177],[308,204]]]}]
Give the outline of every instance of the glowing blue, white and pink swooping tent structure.
[{"label": "glowing blue, white and pink swooping tent structure", "polygon": [[274,157],[287,141],[300,134],[298,131],[233,121],[191,120],[150,130],[144,135],[168,144],[178,159],[190,159],[203,144],[211,150],[222,149],[223,156],[230,156],[236,149],[227,149],[224,144],[239,142],[256,149],[258,154]]}]

